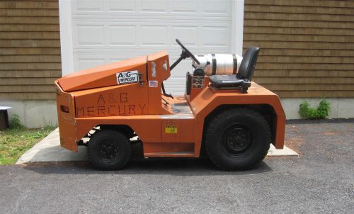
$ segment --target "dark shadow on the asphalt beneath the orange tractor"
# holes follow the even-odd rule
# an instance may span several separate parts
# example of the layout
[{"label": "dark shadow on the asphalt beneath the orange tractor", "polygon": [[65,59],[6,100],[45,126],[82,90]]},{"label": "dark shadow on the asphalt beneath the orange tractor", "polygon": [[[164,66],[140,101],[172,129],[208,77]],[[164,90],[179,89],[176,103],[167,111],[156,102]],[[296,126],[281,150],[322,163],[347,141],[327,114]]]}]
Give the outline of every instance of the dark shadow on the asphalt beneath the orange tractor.
[{"label": "dark shadow on the asphalt beneath the orange tractor", "polygon": [[273,171],[268,164],[261,162],[254,169],[246,171],[222,171],[209,159],[149,158],[132,159],[122,170],[100,171],[91,167],[89,162],[47,162],[23,166],[38,174],[168,174],[172,176],[217,176],[259,174]]}]

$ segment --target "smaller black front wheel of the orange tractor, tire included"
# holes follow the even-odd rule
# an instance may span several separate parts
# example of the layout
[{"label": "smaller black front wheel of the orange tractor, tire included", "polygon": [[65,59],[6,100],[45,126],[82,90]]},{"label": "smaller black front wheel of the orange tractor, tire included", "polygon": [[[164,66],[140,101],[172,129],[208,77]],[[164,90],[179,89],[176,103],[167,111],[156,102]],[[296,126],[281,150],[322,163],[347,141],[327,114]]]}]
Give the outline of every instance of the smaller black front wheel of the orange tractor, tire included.
[{"label": "smaller black front wheel of the orange tractor, tire included", "polygon": [[126,135],[115,130],[95,133],[87,147],[89,161],[97,169],[122,169],[130,160],[132,149]]}]

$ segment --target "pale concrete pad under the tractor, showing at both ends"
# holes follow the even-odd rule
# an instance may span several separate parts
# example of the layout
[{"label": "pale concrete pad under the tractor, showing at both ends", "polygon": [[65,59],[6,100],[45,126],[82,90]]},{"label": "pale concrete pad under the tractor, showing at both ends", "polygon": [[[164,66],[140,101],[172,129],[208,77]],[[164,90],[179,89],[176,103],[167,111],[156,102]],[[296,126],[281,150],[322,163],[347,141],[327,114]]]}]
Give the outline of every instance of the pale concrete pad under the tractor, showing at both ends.
[{"label": "pale concrete pad under the tractor, showing at both ends", "polygon": [[[273,145],[270,145],[268,157],[276,156],[298,156],[297,152],[289,147],[284,147],[282,150],[277,150]],[[60,147],[59,128],[54,130],[50,135],[38,142],[34,147],[25,152],[16,164],[25,164],[33,162],[74,162],[87,161],[86,147],[79,147],[79,152],[74,153]]]}]

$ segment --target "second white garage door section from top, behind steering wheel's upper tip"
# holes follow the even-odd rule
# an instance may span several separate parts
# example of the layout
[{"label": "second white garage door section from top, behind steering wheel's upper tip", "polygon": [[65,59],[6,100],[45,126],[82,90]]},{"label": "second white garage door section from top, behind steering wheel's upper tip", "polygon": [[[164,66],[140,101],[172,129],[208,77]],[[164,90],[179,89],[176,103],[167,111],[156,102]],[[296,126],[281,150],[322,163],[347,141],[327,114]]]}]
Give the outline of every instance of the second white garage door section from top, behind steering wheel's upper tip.
[{"label": "second white garage door section from top, behind steering wheel's upper tip", "polygon": [[231,24],[202,24],[197,23],[103,23],[90,24],[88,21],[74,21],[72,28],[76,31],[73,36],[74,50],[76,48],[98,46],[129,49],[132,46],[137,51],[140,48],[163,47],[173,49],[179,47],[175,39],[179,38],[191,50],[213,49],[217,52],[231,51]]}]

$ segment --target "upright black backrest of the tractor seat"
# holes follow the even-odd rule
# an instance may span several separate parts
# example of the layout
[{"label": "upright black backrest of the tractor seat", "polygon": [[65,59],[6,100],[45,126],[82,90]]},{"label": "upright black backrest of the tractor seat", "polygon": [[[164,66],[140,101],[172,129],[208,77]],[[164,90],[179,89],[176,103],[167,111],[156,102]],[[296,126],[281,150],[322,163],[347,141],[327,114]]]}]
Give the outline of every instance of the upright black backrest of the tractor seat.
[{"label": "upright black backrest of the tractor seat", "polygon": [[259,47],[249,47],[241,61],[237,77],[252,80],[254,68],[258,58]]}]

